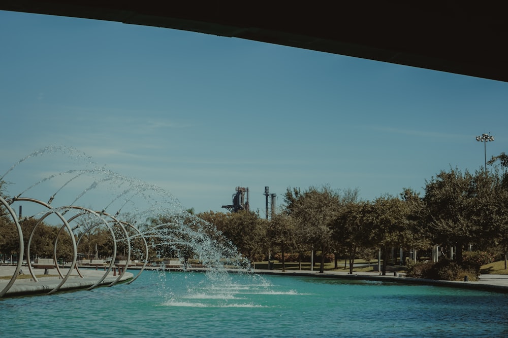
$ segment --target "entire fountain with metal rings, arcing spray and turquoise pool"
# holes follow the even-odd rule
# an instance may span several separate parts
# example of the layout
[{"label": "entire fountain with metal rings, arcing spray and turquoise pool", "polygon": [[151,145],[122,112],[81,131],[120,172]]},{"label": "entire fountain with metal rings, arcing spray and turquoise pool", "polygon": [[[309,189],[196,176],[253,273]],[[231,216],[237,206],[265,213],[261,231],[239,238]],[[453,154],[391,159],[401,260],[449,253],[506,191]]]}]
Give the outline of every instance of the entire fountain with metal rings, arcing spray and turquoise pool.
[{"label": "entire fountain with metal rings, arcing spray and turquoise pool", "polygon": [[[80,165],[63,168],[65,171],[48,170],[49,174],[27,188],[6,190],[4,195],[9,197],[0,197],[0,208],[19,241],[14,274],[0,292],[0,317],[5,318],[2,333],[6,336],[481,337],[508,333],[504,319],[508,297],[502,293],[223,273],[225,265],[242,266],[243,262],[212,224],[186,213],[159,187],[98,167],[74,149],[43,148],[12,166],[2,180],[15,174],[18,165],[52,154],[72,158]],[[48,187],[51,182],[54,184]],[[54,193],[44,202],[48,191]],[[97,203],[83,206],[90,195],[87,201]],[[30,211],[29,217],[14,211],[20,203]],[[108,213],[111,209],[116,212]],[[24,239],[22,221],[30,217],[37,222]],[[108,268],[87,287],[89,292],[57,292],[69,283],[68,274],[57,269],[59,283],[46,290],[51,298],[4,297],[21,270],[24,250],[31,254],[37,226],[50,218],[58,229],[51,243],[56,267],[59,241],[73,239],[70,267],[82,277],[76,248],[88,233],[102,227],[114,244]],[[132,256],[142,257],[142,269],[130,280],[136,283],[118,283],[120,277],[115,276],[103,284],[121,247],[127,258],[123,271]],[[194,248],[210,269],[202,274],[192,269],[174,272],[162,266],[160,271],[143,272],[149,248],[163,252],[167,247],[179,252],[183,260],[188,258],[187,249]],[[26,264],[36,281],[29,258]],[[116,286],[96,287],[99,285]]]}]

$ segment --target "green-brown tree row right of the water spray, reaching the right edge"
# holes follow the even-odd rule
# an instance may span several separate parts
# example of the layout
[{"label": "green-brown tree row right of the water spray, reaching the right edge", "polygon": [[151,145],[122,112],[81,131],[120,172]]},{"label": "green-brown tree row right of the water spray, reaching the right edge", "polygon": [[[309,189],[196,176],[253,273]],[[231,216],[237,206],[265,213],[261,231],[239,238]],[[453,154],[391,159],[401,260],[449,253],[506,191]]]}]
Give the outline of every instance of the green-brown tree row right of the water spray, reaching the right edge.
[{"label": "green-brown tree row right of the water spray, reaching the right edge", "polygon": [[[501,169],[508,167],[504,153],[489,164],[498,161]],[[317,252],[321,273],[327,256],[346,257],[352,273],[355,258],[380,251],[385,275],[393,248],[430,257],[437,246],[442,252],[453,249],[459,266],[466,264],[464,251],[472,250],[488,252],[487,257],[502,255],[506,268],[508,175],[499,168],[450,168],[425,182],[423,196],[403,189],[398,196],[386,194],[372,201],[360,199],[357,189],[289,187],[284,205],[270,220],[251,211],[198,216],[215,224],[252,262],[278,252],[284,266],[287,253],[301,260],[310,251]]]}]

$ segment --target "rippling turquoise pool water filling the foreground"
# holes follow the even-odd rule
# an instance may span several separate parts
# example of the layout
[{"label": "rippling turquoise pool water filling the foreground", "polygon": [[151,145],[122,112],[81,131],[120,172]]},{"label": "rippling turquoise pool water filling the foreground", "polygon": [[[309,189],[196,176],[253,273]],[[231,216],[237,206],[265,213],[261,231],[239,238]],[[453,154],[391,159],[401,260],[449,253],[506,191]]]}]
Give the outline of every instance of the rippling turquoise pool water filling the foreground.
[{"label": "rippling turquoise pool water filling the foreground", "polygon": [[312,277],[143,272],[0,300],[6,337],[502,337],[508,295]]}]

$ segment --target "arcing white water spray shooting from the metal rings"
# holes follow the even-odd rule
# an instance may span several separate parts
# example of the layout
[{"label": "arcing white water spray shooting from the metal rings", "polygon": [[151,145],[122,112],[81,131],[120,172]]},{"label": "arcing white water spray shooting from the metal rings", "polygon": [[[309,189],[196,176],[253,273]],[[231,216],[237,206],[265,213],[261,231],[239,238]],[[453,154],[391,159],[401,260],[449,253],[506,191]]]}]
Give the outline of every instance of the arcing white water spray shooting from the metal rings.
[{"label": "arcing white water spray shooting from the metal rings", "polygon": [[[67,147],[45,147],[18,161],[18,163],[12,166],[5,175],[11,172],[19,163],[22,163],[28,158],[42,154],[55,153],[56,151],[67,153],[67,155],[77,153],[75,149]],[[83,158],[82,155],[80,155],[80,157]],[[78,159],[80,157],[78,157]],[[77,221],[77,218],[83,220],[83,217],[85,217],[84,215],[88,215],[88,217],[91,216],[93,224],[86,225],[86,221],[80,222],[83,223],[83,226],[85,226],[84,230],[80,224],[78,224],[72,229],[69,227],[69,232],[71,234],[73,232],[81,232],[81,237],[84,233],[87,233],[94,227],[97,227],[100,224],[105,224],[106,228],[111,232],[113,239],[113,256],[116,256],[117,243],[122,248],[127,249],[128,256],[126,264],[128,264],[130,260],[132,251],[132,253],[136,256],[135,259],[139,259],[138,257],[143,256],[143,259],[145,260],[144,266],[146,265],[148,259],[150,259],[148,246],[146,244],[146,240],[148,240],[151,243],[152,257],[154,256],[155,250],[157,258],[160,259],[174,259],[177,257],[180,261],[183,261],[185,270],[192,260],[193,265],[196,264],[198,266],[208,268],[208,270],[205,270],[216,276],[218,276],[217,274],[219,272],[227,272],[228,268],[234,268],[237,271],[250,271],[248,260],[239,254],[238,250],[231,241],[219,232],[213,224],[187,212],[182,207],[178,199],[168,191],[137,178],[122,176],[116,172],[106,170],[104,167],[96,166],[92,169],[78,168],[58,174],[52,174],[34,184],[31,184],[28,189],[24,190],[17,197],[10,199],[8,202],[9,204],[12,204],[17,199],[20,201],[30,201],[31,199],[20,198],[20,196],[45,181],[54,179],[55,177],[61,175],[74,173],[76,173],[76,175],[73,175],[72,178],[61,185],[50,197],[47,204],[38,200],[40,204],[44,204],[46,208],[50,209],[51,213],[59,213],[60,216],[66,215],[66,213],[74,213],[74,215],[66,216],[66,218],[69,219],[69,222],[71,220]],[[70,205],[57,208],[50,206],[55,199],[55,196],[59,194],[60,191],[68,187],[70,183],[77,180],[78,177],[85,174],[89,174],[93,181],[89,183],[88,187],[82,191]],[[2,179],[5,175],[2,176]],[[106,191],[108,194],[113,194],[113,198],[109,201],[109,203],[106,203],[106,207],[103,208],[102,211],[91,211],[90,208],[75,205],[76,202],[83,196],[87,195],[87,193],[92,190],[99,191],[100,188],[103,188],[103,185],[107,185],[104,187],[107,188]],[[120,187],[122,187],[121,191],[119,189]],[[102,190],[100,193],[100,196],[103,197],[104,193]],[[114,216],[106,214],[106,210],[110,208],[113,203],[121,200],[122,198],[124,200],[116,214]],[[92,199],[91,201],[96,203],[99,202],[98,199]],[[129,204],[131,208],[125,208]],[[128,210],[122,211],[124,209]],[[75,211],[71,212],[71,210]],[[46,217],[45,215],[43,217]],[[36,216],[37,214],[30,217]],[[61,218],[61,220],[63,223],[66,223],[65,219]],[[118,232],[118,227],[121,228],[121,232]],[[20,238],[20,241],[22,240],[23,239]],[[145,247],[146,253],[144,255],[142,250],[139,248],[140,245]],[[74,259],[76,258],[76,255],[77,254],[75,254]],[[140,273],[144,269],[144,266]],[[125,270],[127,267],[128,266],[126,265]],[[222,276],[220,278],[225,277]]]}]

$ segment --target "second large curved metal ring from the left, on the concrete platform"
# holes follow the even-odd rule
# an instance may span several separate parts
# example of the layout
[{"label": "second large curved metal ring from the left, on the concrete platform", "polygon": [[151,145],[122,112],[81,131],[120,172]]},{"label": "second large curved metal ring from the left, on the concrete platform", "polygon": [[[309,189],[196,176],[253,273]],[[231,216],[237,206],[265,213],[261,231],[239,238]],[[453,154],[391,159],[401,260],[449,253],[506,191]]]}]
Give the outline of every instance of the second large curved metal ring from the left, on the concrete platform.
[{"label": "second large curved metal ring from the left, on the concrete platform", "polygon": [[[39,218],[39,220],[37,221],[37,223],[35,224],[34,226],[34,229],[32,230],[31,234],[30,234],[30,238],[28,239],[28,247],[26,248],[26,255],[28,256],[28,259],[26,260],[26,264],[28,266],[28,270],[30,271],[30,274],[31,276],[34,278],[34,281],[38,282],[38,279],[37,277],[35,276],[32,268],[31,268],[31,262],[30,262],[30,245],[31,245],[31,240],[32,238],[34,237],[34,234],[35,234],[35,231],[37,229],[37,227],[39,226],[39,224],[47,217],[49,216],[50,214],[54,213],[58,216],[58,218],[60,218],[60,220],[63,222],[64,226],[67,228],[67,230],[69,231],[69,235],[71,236],[71,241],[72,241],[72,247],[73,247],[73,259],[72,259],[72,264],[71,264],[71,267],[69,268],[69,271],[67,272],[66,276],[63,277],[60,273],[60,270],[57,270],[58,273],[59,273],[59,276],[62,278],[62,281],[57,285],[55,286],[51,291],[48,292],[48,294],[52,294],[56,291],[58,291],[60,289],[60,287],[65,283],[67,282],[67,280],[69,279],[69,276],[71,276],[71,273],[72,273],[72,270],[74,270],[74,267],[76,266],[76,259],[78,257],[78,250],[77,250],[77,247],[76,247],[76,240],[74,238],[74,234],[72,232],[72,228],[69,226],[69,223],[67,222],[67,220],[65,218],[63,218],[63,216],[58,212],[58,210],[56,210],[55,208],[53,208],[52,206],[50,206],[49,204],[45,203],[45,202],[42,202],[40,200],[36,200],[36,199],[33,199],[33,198],[27,198],[27,197],[19,197],[19,198],[13,198],[13,201],[25,201],[25,202],[33,202],[33,203],[37,203],[37,204],[40,204],[42,206],[45,206],[46,208],[48,208],[50,211],[48,211],[46,214],[44,214],[44,216],[42,216],[41,218]],[[53,257],[53,261],[54,261],[54,264],[55,266],[58,266],[58,262],[55,260],[55,258]]]}]

